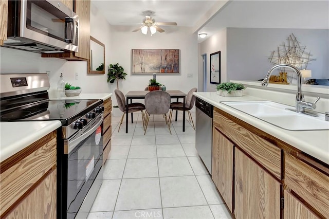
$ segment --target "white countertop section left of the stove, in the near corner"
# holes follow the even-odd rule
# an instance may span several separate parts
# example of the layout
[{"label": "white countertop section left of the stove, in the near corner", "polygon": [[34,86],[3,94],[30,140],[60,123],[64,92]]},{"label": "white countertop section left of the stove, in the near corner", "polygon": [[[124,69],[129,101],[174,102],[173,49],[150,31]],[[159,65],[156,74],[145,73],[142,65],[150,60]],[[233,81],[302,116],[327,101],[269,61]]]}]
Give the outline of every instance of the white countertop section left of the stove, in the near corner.
[{"label": "white countertop section left of the stove, in the near corner", "polygon": [[0,122],[0,162],[61,125],[60,121]]}]

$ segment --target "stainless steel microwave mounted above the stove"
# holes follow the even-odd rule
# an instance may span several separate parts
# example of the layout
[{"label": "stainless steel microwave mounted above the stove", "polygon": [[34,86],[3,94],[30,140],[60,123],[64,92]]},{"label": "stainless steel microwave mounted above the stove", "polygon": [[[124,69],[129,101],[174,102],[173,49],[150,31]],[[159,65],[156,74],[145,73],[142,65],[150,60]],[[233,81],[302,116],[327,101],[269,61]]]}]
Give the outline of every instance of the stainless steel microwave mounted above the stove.
[{"label": "stainless steel microwave mounted above the stove", "polygon": [[60,1],[8,1],[4,47],[31,52],[78,51],[79,16]]}]

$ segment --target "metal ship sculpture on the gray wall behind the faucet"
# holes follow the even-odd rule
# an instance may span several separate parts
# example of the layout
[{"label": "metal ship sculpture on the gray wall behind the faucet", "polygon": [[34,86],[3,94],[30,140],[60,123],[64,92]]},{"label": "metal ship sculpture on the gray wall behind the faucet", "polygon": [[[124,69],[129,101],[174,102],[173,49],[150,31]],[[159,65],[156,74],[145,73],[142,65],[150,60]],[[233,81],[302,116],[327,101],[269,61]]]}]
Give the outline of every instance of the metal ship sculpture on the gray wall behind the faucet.
[{"label": "metal ship sculpture on the gray wall behind the faucet", "polygon": [[[290,64],[302,70],[307,68],[310,61],[316,60],[312,56],[313,54],[306,50],[306,46],[301,46],[294,33],[291,33],[286,43],[283,42],[283,45],[278,46],[277,50],[271,52],[268,60],[274,65]],[[287,72],[286,78],[290,83],[297,80],[296,74],[290,69],[279,68],[279,70],[283,73]],[[288,84],[288,82],[285,81],[285,84]]]}]

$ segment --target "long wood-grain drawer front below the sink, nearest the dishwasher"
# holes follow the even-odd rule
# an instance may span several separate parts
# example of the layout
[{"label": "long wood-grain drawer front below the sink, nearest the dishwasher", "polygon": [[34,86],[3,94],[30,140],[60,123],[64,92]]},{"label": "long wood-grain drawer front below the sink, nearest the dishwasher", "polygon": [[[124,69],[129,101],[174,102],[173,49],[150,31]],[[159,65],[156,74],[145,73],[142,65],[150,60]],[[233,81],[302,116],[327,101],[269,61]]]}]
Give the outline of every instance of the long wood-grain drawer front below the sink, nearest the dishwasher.
[{"label": "long wood-grain drawer front below the sink, nearest the dishwasher", "polygon": [[264,166],[270,173],[281,179],[281,149],[265,139],[253,134],[255,129],[250,125],[250,131],[229,118],[214,111],[214,126],[231,139],[249,156]]}]

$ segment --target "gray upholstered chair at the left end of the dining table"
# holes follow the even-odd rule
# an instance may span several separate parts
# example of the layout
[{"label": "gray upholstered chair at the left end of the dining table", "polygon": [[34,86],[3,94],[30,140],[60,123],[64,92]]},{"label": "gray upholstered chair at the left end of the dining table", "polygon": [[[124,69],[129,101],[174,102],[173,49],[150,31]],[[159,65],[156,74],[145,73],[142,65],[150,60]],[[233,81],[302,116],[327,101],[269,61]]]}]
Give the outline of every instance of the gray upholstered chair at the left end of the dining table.
[{"label": "gray upholstered chair at the left end of the dining table", "polygon": [[119,125],[118,132],[120,131],[120,127],[121,127],[121,124],[122,124],[125,113],[134,113],[134,112],[138,112],[138,111],[141,111],[141,113],[142,113],[143,128],[145,129],[145,126],[144,126],[145,116],[144,116],[144,111],[143,111],[145,109],[145,105],[142,104],[142,103],[129,103],[128,104],[128,112],[126,112],[126,104],[125,104],[124,94],[118,89],[115,89],[114,93],[115,93],[115,96],[117,98],[119,109],[123,113],[122,117],[121,117],[121,120],[120,120],[120,125]]}]

